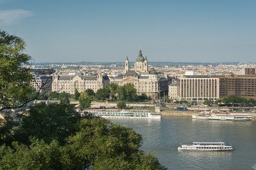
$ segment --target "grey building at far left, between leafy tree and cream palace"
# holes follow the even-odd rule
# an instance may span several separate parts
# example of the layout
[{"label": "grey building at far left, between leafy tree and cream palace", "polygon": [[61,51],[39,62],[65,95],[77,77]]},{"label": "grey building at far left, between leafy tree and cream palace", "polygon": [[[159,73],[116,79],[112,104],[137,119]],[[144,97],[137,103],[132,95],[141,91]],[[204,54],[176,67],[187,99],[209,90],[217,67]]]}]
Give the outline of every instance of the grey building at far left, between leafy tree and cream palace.
[{"label": "grey building at far left, between leafy tree and cream palace", "polygon": [[52,90],[52,82],[53,82],[53,77],[41,76],[41,77],[35,77],[31,81],[31,84],[33,88],[36,89],[36,91],[40,91],[46,94],[48,91]]}]

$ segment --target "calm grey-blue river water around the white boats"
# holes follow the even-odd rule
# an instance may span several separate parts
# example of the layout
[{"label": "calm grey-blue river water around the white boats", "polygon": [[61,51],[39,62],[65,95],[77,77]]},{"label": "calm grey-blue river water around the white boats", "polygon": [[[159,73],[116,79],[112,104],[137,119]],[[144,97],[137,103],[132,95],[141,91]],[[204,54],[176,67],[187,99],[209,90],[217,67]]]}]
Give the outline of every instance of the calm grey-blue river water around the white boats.
[{"label": "calm grey-blue river water around the white boats", "polygon": [[[161,120],[113,119],[143,137],[141,149],[156,152],[168,169],[256,169],[256,121],[192,120],[171,117]],[[225,142],[233,152],[178,152],[180,142]],[[254,166],[255,165],[255,166]]]}]

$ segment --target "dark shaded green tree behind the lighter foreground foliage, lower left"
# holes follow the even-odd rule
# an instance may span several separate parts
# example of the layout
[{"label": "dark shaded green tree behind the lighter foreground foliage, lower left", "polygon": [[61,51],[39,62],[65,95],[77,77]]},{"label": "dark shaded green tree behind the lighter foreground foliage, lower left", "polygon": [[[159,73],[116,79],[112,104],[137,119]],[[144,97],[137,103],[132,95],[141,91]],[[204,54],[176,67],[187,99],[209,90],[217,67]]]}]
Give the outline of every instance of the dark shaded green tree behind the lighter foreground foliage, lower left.
[{"label": "dark shaded green tree behind the lighter foreground foliage, lower left", "polygon": [[47,143],[58,140],[67,142],[70,135],[79,130],[81,115],[70,105],[40,103],[24,111],[22,123],[15,130],[14,138],[18,142],[29,144],[29,137],[36,137]]}]

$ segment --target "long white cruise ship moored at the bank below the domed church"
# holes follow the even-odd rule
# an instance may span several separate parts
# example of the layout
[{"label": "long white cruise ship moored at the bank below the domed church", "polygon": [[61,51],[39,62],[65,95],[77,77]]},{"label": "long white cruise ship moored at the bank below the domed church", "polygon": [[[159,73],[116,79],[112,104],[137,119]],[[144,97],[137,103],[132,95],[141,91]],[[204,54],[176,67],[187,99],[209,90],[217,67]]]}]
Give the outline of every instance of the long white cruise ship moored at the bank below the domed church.
[{"label": "long white cruise ship moored at the bank below the domed church", "polygon": [[117,109],[85,109],[84,112],[92,113],[92,115],[102,118],[144,118],[144,119],[161,119],[159,113],[146,110],[117,110]]}]

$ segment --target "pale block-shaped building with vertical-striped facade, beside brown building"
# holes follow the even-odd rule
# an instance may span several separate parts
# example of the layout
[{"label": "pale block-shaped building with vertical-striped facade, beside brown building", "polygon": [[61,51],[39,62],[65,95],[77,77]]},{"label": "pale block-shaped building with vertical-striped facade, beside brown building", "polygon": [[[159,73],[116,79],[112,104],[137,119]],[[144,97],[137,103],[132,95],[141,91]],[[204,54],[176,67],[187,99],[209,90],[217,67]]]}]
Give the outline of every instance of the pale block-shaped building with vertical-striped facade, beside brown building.
[{"label": "pale block-shaped building with vertical-striped facade, beside brown building", "polygon": [[207,76],[178,78],[178,99],[186,101],[218,100],[220,93],[219,84],[219,78]]}]

